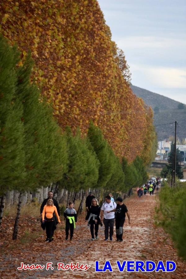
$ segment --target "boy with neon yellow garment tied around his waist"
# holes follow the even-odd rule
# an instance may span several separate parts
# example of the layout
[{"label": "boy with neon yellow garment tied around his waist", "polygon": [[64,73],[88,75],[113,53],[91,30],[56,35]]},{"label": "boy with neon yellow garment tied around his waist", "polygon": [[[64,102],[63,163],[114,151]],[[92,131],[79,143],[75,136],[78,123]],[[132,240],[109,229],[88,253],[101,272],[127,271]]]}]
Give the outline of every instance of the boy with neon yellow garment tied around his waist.
[{"label": "boy with neon yellow garment tied around his waist", "polygon": [[76,210],[73,208],[73,202],[69,202],[69,208],[65,209],[63,215],[66,219],[66,226],[65,226],[66,240],[68,240],[69,229],[70,229],[70,240],[72,240],[73,230],[76,227],[75,222],[77,222],[77,213]]}]

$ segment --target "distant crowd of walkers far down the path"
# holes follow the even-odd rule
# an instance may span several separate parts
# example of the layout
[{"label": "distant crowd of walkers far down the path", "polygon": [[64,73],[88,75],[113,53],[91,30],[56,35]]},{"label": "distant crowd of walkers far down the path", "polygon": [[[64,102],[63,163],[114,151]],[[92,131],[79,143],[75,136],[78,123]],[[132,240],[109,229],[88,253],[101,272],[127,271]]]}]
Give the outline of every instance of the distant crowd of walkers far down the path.
[{"label": "distant crowd of walkers far down the path", "polygon": [[149,193],[150,196],[154,195],[154,191],[156,190],[156,192],[159,190],[160,187],[160,177],[157,177],[157,179],[150,179],[146,184],[144,184],[141,187],[138,187],[136,192],[138,197],[140,198],[141,196],[146,195],[146,193]]}]

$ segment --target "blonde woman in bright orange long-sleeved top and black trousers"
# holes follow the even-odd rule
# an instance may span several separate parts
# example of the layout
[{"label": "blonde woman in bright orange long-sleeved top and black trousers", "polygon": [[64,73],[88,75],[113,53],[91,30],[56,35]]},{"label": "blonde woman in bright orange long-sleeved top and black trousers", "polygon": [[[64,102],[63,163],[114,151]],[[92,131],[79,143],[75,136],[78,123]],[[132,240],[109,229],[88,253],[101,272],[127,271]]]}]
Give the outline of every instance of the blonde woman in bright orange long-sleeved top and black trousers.
[{"label": "blonde woman in bright orange long-sleeved top and black trousers", "polygon": [[42,212],[42,222],[45,223],[46,233],[47,233],[47,242],[52,241],[52,233],[53,233],[53,226],[55,226],[55,217],[54,213],[58,219],[58,222],[60,222],[60,217],[57,213],[57,209],[54,206],[53,200],[48,199],[46,205],[43,208]]}]

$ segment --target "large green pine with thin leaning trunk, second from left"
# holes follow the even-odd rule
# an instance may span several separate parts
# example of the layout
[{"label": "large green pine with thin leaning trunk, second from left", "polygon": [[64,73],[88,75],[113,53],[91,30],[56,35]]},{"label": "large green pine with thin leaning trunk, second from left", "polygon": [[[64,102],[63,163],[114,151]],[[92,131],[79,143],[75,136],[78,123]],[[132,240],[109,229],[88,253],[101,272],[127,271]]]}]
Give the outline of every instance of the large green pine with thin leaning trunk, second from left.
[{"label": "large green pine with thin leaning trunk, second from left", "polygon": [[67,164],[66,142],[53,119],[52,110],[45,100],[39,100],[40,91],[30,82],[32,66],[33,60],[29,54],[23,66],[17,70],[16,98],[23,104],[26,176],[19,187],[13,239],[17,237],[24,191],[33,191],[61,179]]}]

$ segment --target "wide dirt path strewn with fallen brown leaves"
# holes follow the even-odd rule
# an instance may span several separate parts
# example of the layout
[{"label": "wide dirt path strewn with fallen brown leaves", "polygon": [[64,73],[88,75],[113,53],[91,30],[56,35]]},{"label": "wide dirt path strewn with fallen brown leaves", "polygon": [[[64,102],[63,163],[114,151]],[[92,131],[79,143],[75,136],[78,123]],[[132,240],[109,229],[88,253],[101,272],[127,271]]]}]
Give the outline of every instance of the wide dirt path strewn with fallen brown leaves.
[{"label": "wide dirt path strewn with fallen brown leaves", "polygon": [[[176,250],[168,235],[161,228],[153,226],[154,207],[156,195],[142,196],[140,199],[134,194],[125,201],[131,215],[131,225],[128,220],[124,224],[124,241],[104,241],[104,227],[99,228],[99,239],[90,241],[90,229],[83,218],[78,221],[73,241],[64,240],[64,224],[55,232],[56,239],[51,243],[44,243],[44,237],[30,240],[29,243],[16,243],[9,241],[8,250],[4,250],[1,257],[0,271],[2,278],[101,278],[117,276],[117,278],[186,278],[186,263],[183,263],[176,255]],[[83,216],[82,216],[83,217]],[[32,226],[32,224],[31,224]],[[40,230],[39,224],[37,229]],[[42,231],[41,231],[42,233]],[[40,235],[41,235],[40,233]],[[42,233],[43,234],[43,233]],[[114,233],[115,235],[115,233]],[[10,243],[11,242],[11,243]],[[10,249],[10,245],[13,246]],[[95,261],[99,260],[100,268],[106,260],[112,264],[113,272],[106,274],[95,272]],[[162,260],[173,260],[177,264],[175,272],[119,272],[116,260],[152,260],[158,263]],[[88,264],[91,267],[87,271],[57,270],[57,263]],[[42,264],[52,262],[54,269],[18,271],[20,263]]]}]

